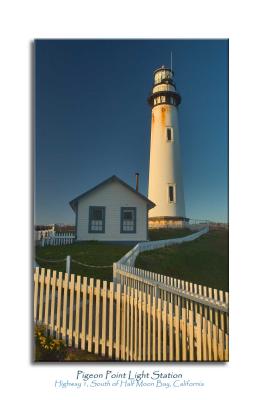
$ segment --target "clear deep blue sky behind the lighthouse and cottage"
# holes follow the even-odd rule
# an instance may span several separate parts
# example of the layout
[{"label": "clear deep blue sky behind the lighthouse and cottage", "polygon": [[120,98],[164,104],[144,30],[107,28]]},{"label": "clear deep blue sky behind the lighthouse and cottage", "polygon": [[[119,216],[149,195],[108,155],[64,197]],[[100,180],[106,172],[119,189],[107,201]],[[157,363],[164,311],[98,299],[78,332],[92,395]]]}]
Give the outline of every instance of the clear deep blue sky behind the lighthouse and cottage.
[{"label": "clear deep blue sky behind the lighthouse and cottage", "polygon": [[35,223],[74,223],[69,201],[113,174],[147,195],[146,99],[171,51],[186,215],[227,221],[227,40],[38,40]]}]

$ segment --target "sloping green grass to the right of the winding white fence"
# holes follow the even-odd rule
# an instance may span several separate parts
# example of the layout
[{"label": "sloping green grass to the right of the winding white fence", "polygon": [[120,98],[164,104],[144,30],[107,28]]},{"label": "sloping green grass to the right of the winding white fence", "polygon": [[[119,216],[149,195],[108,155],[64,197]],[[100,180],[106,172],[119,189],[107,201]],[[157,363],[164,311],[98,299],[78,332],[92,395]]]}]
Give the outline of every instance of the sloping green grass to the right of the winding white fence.
[{"label": "sloping green grass to the right of the winding white fence", "polygon": [[136,267],[228,291],[228,231],[141,253]]}]

